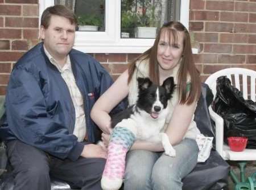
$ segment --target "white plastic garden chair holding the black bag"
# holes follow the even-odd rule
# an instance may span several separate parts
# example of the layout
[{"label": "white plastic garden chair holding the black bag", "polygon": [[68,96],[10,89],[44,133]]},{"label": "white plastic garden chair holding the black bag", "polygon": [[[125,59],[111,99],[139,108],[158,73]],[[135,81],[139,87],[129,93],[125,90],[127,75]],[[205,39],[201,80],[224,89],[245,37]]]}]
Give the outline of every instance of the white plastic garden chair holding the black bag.
[{"label": "white plastic garden chair holding the black bag", "polygon": [[[242,84],[242,93],[245,100],[251,99],[255,102],[255,78],[256,71],[245,69],[245,68],[227,68],[217,71],[210,75],[205,81],[212,90],[214,97],[216,96],[216,80],[220,76],[227,76],[232,85],[236,86],[238,90],[241,90],[240,85]],[[250,77],[250,94],[247,92],[247,77]],[[234,79],[234,81],[232,80]],[[241,81],[242,79],[242,81]],[[249,96],[250,98],[249,98]],[[225,160],[256,160],[256,149],[245,149],[242,152],[231,151],[230,148],[224,144],[224,121],[220,115],[212,110],[209,106],[210,117],[213,119],[216,125],[216,150]]]}]

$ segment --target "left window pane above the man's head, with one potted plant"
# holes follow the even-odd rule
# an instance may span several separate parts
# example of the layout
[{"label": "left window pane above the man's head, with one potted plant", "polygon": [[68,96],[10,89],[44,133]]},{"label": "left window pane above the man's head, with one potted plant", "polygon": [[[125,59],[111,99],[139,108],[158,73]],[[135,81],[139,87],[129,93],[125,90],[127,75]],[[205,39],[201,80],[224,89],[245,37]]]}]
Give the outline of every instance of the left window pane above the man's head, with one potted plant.
[{"label": "left window pane above the man's head, with one potted plant", "polygon": [[77,16],[79,31],[105,31],[105,0],[55,0]]}]

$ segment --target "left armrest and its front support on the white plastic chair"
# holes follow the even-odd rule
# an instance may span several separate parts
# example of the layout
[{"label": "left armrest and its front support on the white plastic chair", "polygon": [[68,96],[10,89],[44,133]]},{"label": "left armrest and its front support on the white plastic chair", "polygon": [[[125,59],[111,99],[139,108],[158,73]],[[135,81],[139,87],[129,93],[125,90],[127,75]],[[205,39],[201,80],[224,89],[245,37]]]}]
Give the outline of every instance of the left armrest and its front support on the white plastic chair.
[{"label": "left armrest and its front support on the white plastic chair", "polygon": [[218,154],[221,155],[222,158],[224,158],[223,155],[223,143],[224,143],[224,121],[220,115],[218,115],[216,112],[212,110],[212,107],[209,106],[209,114],[210,118],[215,123],[215,135],[216,135],[216,150]]}]

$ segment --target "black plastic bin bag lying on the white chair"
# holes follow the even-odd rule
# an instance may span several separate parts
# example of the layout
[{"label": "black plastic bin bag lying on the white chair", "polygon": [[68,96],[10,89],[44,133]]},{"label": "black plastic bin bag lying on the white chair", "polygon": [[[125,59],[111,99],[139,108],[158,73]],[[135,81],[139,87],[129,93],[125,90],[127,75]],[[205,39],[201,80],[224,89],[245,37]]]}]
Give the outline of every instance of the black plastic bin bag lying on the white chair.
[{"label": "black plastic bin bag lying on the white chair", "polygon": [[228,137],[247,137],[246,148],[256,148],[256,103],[245,100],[226,76],[216,81],[213,110],[224,119],[224,141]]}]

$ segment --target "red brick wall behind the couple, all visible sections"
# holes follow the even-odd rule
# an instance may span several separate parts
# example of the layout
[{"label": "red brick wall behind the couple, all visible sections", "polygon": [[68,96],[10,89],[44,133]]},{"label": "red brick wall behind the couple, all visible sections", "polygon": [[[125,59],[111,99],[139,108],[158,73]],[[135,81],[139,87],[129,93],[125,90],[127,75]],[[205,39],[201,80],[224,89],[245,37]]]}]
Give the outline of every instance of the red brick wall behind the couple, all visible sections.
[{"label": "red brick wall behind the couple, all visible sections", "polygon": [[[256,0],[191,0],[189,30],[202,81],[229,67],[256,71]],[[38,42],[38,0],[0,0],[0,95],[15,61]],[[137,54],[93,53],[116,79]]]}]

